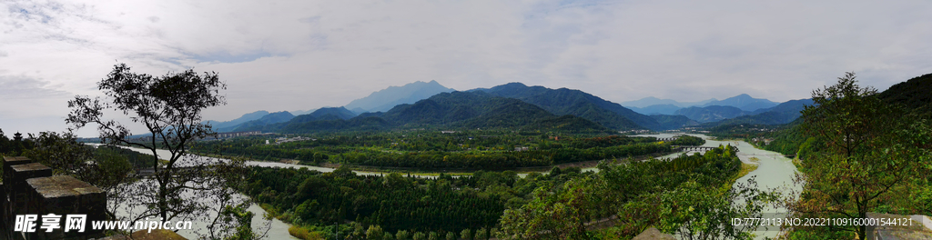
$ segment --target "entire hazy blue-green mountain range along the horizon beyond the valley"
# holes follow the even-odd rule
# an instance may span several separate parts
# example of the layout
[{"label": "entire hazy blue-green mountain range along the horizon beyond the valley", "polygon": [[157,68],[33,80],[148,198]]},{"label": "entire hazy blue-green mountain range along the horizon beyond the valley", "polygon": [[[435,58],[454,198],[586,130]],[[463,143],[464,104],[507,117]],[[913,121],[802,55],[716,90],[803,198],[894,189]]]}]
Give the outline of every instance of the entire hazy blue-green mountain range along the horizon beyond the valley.
[{"label": "entire hazy blue-green mountain range along the horizon beyond the valley", "polygon": [[610,132],[676,129],[726,120],[731,120],[729,123],[786,124],[799,117],[805,103],[804,100],[788,101],[784,105],[741,94],[725,100],[678,102],[645,98],[619,104],[569,88],[510,83],[455,91],[436,81],[418,81],[373,92],[365,98],[352,100],[344,107],[301,111],[300,114],[258,111],[226,122],[209,122],[218,132],[308,133],[391,127],[508,127]]}]

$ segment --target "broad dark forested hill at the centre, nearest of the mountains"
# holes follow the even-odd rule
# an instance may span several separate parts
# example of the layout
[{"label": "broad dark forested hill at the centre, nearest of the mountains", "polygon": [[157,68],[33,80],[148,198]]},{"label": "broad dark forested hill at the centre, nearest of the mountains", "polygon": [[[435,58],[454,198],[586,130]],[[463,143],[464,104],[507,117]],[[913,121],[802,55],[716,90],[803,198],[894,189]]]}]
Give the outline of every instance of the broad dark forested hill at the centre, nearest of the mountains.
[{"label": "broad dark forested hill at the centre, nearest of the mountains", "polygon": [[238,130],[307,133],[335,130],[379,130],[391,127],[504,127],[528,131],[611,131],[610,128],[580,117],[558,116],[521,100],[496,97],[484,92],[441,93],[426,100],[418,100],[414,104],[395,106],[387,113],[365,113],[350,119],[313,117],[312,115],[313,113],[299,115],[285,123]]}]

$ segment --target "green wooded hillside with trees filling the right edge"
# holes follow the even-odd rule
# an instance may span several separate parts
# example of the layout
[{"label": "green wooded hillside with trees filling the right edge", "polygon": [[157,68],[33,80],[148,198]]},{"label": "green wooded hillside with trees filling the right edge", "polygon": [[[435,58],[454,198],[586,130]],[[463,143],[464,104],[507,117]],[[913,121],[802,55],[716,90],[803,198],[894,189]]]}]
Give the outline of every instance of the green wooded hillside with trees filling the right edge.
[{"label": "green wooded hillside with trees filling the right edge", "polygon": [[[816,89],[814,104],[787,125],[721,125],[709,135],[743,139],[795,156],[803,186],[788,201],[800,218],[865,218],[868,212],[932,215],[928,166],[932,74],[883,92],[857,85],[854,73]],[[805,181],[802,181],[805,180]],[[801,227],[789,239],[851,239],[857,226]]]}]

